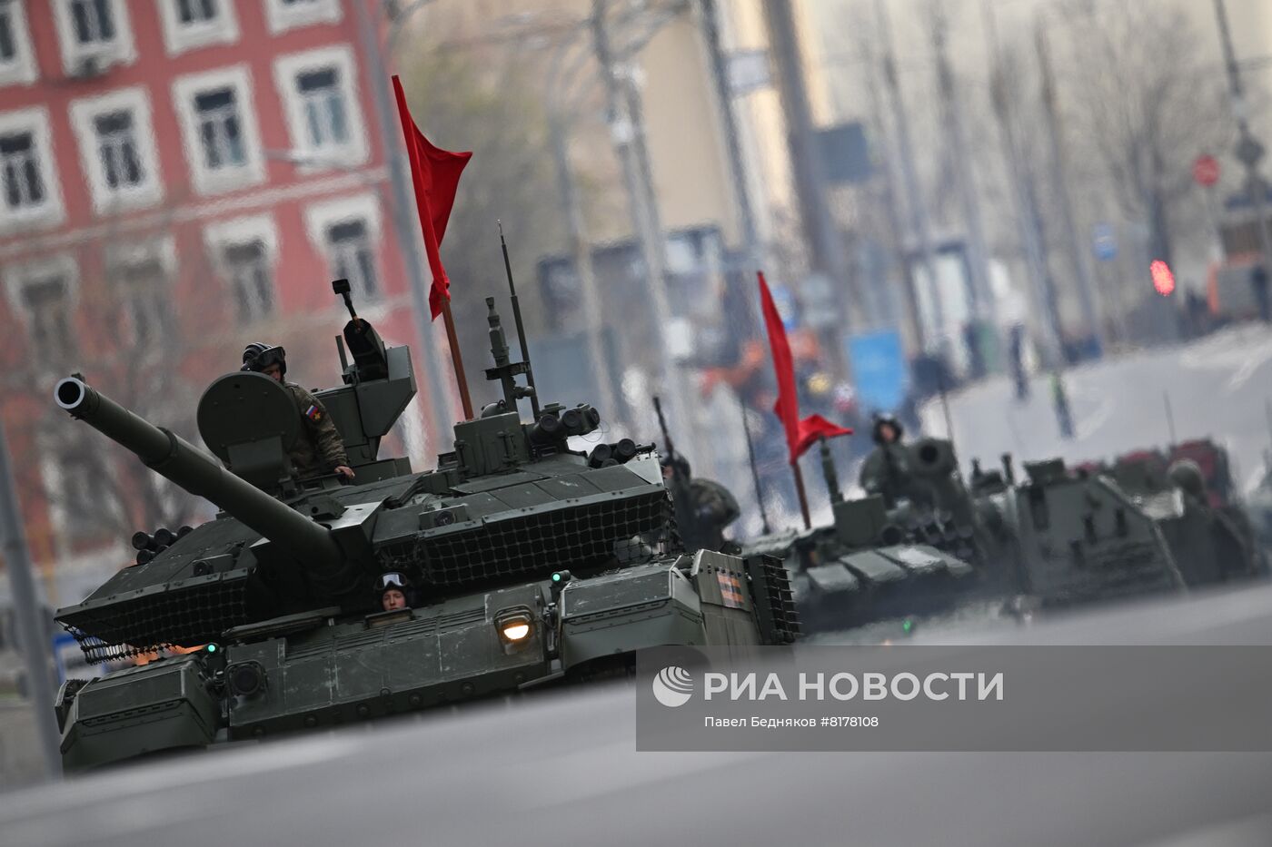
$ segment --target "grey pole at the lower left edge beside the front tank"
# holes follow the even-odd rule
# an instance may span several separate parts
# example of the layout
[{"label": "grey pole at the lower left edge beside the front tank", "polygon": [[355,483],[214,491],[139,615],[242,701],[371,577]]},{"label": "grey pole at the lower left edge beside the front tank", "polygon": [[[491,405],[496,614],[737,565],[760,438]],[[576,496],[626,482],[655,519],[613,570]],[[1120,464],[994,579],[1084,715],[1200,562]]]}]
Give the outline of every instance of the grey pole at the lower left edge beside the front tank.
[{"label": "grey pole at the lower left edge beside the front tank", "polygon": [[36,733],[45,761],[45,777],[56,780],[62,772],[60,750],[61,734],[53,721],[53,685],[48,678],[48,658],[52,642],[45,632],[39,593],[32,576],[31,551],[22,529],[22,509],[18,490],[13,482],[9,446],[0,420],[0,552],[9,574],[13,590],[13,609],[18,619],[18,641],[27,663],[27,693],[36,715]]}]

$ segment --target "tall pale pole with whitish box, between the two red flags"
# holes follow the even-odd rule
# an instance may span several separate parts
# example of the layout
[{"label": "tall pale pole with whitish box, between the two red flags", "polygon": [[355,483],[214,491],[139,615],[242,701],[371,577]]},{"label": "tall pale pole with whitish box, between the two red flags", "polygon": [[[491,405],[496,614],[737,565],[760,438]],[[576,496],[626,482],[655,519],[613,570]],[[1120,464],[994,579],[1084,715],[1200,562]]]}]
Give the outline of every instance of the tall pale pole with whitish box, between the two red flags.
[{"label": "tall pale pole with whitish box, between the two red flags", "polygon": [[658,343],[661,379],[667,383],[665,388],[672,390],[661,393],[675,396],[675,402],[670,407],[673,425],[678,431],[689,434],[695,430],[688,426],[688,393],[665,343],[665,333],[672,322],[672,305],[667,291],[667,239],[658,215],[658,197],[654,192],[649,151],[645,148],[644,111],[640,92],[631,74],[627,74],[626,81],[618,78],[609,43],[609,29],[605,24],[608,5],[608,0],[593,0],[590,19],[597,62],[600,65],[605,84],[605,112],[627,188],[632,235],[640,245],[645,265],[654,320],[659,333],[664,336],[655,343]]}]

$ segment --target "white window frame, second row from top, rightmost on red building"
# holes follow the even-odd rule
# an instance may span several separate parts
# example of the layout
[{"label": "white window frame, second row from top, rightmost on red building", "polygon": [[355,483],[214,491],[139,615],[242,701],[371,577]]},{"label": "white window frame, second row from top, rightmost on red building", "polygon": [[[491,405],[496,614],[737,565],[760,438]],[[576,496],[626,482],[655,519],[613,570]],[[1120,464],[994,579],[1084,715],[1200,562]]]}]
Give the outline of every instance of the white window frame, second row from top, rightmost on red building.
[{"label": "white window frame, second row from top, rightmost on red building", "polygon": [[[338,76],[340,93],[345,99],[349,140],[338,146],[315,148],[309,139],[309,122],[298,84],[301,72],[327,67],[335,69]],[[370,156],[370,145],[366,140],[363,109],[357,98],[357,62],[349,45],[280,56],[273,62],[273,83],[286,112],[291,150],[298,156],[296,167],[301,173],[347,170],[352,165],[366,164]]]}]

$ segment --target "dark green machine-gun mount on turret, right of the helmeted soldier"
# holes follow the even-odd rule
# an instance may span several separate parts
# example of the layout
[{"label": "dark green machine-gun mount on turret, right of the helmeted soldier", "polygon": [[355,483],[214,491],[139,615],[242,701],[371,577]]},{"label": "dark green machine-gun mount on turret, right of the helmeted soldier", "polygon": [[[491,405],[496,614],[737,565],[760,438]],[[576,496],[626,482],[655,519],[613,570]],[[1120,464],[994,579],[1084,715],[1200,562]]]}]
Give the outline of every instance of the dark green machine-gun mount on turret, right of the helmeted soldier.
[{"label": "dark green machine-gun mount on turret, right of the helmeted soldier", "polygon": [[387,347],[375,328],[357,315],[349,280],[336,280],[332,289],[345,299],[350,314],[342,337],[336,338],[345,384],[314,393],[340,430],[359,485],[411,473],[406,458],[379,459],[380,439],[415,397],[411,350]]}]

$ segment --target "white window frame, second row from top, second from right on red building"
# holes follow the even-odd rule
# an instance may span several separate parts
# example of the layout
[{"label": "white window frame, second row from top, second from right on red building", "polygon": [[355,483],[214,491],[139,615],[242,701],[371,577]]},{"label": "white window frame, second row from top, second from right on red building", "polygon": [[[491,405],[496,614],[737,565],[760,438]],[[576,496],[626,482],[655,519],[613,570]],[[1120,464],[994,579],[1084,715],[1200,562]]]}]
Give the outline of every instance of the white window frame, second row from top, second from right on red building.
[{"label": "white window frame, second row from top, second from right on red building", "polygon": [[[218,88],[234,90],[247,162],[235,168],[209,170],[204,164],[204,141],[198,132],[198,109],[195,108],[195,95]],[[204,74],[178,76],[172,83],[172,99],[177,108],[177,120],[186,142],[186,160],[190,163],[191,183],[196,192],[218,195],[265,182],[265,156],[261,149],[261,130],[256,121],[254,98],[252,97],[252,74],[245,64],[220,67]]]}]

